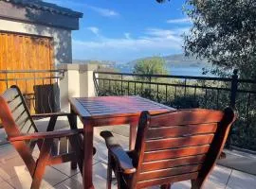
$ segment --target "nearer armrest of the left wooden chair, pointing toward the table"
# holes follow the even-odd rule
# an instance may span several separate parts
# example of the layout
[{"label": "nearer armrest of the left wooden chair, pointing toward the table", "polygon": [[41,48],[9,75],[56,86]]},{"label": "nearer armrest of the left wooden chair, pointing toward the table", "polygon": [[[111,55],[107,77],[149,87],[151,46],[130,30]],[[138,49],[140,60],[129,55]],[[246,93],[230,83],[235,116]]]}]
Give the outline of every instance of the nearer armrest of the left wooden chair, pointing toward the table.
[{"label": "nearer armrest of the left wooden chair, pointing toward the table", "polygon": [[9,137],[9,142],[15,141],[25,141],[32,139],[52,139],[52,138],[62,138],[71,135],[80,134],[83,132],[83,129],[69,129],[69,130],[56,130],[56,131],[48,131],[48,132],[35,132],[31,134]]}]

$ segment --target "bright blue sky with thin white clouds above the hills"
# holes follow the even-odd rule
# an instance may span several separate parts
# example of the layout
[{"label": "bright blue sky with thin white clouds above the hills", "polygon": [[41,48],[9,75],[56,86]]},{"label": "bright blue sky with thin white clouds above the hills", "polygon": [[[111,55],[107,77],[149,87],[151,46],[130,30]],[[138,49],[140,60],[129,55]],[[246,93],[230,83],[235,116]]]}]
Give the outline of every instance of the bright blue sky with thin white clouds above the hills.
[{"label": "bright blue sky with thin white clouds above the hills", "polygon": [[83,13],[72,32],[76,60],[127,62],[183,53],[184,32],[192,25],[185,0],[45,0]]}]

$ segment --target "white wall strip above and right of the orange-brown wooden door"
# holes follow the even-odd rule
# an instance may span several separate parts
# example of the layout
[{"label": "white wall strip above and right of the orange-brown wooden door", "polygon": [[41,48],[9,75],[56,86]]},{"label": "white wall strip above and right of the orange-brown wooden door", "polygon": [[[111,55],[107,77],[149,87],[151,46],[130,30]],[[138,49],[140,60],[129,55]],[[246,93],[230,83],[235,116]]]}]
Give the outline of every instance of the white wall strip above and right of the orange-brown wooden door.
[{"label": "white wall strip above and right of the orange-brown wooden door", "polygon": [[54,41],[55,64],[72,63],[71,31],[57,27],[30,25],[0,18],[0,31],[52,37]]}]

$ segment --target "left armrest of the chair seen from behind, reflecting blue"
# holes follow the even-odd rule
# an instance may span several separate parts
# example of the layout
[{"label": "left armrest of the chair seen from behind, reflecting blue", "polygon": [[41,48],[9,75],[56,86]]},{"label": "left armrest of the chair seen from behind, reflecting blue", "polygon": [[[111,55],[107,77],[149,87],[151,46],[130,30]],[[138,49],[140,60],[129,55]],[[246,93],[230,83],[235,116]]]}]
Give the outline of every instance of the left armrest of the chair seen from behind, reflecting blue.
[{"label": "left armrest of the chair seen from behind, reflecting blue", "polygon": [[124,149],[119,146],[116,142],[113,134],[109,131],[101,131],[101,137],[105,139],[106,146],[111,154],[118,161],[120,168],[125,174],[132,174],[137,171],[134,167],[132,159],[128,156],[128,154],[124,151]]}]

